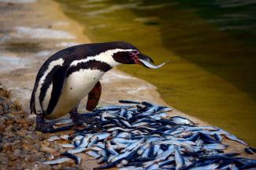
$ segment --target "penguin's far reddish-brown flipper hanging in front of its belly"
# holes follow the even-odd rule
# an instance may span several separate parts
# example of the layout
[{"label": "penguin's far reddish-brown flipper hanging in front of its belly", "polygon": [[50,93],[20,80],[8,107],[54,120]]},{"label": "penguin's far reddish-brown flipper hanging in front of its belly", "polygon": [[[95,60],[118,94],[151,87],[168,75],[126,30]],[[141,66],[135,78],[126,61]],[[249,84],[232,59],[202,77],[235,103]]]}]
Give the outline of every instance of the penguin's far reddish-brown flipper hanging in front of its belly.
[{"label": "penguin's far reddish-brown flipper hanging in front of its belly", "polygon": [[102,94],[102,85],[98,81],[95,87],[88,94],[87,106],[86,106],[87,110],[92,111],[95,109],[101,94]]}]

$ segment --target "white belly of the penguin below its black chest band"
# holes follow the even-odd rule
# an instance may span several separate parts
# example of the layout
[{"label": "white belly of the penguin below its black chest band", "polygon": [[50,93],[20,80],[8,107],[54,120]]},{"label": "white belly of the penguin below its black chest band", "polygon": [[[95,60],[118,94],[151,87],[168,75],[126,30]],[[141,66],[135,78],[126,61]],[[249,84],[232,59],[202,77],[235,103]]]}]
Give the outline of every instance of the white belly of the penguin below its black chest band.
[{"label": "white belly of the penguin below its black chest band", "polygon": [[83,69],[73,72],[66,78],[65,84],[53,112],[47,119],[60,118],[75,108],[80,100],[94,88],[105,72],[99,70]]}]

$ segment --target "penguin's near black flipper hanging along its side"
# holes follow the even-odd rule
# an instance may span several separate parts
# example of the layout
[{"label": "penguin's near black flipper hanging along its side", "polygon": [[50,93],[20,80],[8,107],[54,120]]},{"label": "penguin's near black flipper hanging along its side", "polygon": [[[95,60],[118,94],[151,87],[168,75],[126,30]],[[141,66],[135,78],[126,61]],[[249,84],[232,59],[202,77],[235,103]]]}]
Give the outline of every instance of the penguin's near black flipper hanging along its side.
[{"label": "penguin's near black flipper hanging along its side", "polygon": [[65,82],[65,77],[68,70],[69,66],[62,66],[54,72],[52,77],[53,89],[51,91],[50,102],[48,104],[46,114],[50,114],[54,110],[54,107],[56,107],[58,99],[61,96],[61,92]]}]

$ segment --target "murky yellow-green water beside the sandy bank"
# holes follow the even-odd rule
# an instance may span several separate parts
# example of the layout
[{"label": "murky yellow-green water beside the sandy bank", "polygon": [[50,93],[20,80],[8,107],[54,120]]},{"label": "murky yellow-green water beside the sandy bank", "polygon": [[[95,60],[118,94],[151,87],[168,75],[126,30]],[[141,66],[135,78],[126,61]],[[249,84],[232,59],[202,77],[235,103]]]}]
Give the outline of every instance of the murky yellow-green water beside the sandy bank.
[{"label": "murky yellow-green water beside the sandy bank", "polygon": [[157,71],[121,66],[167,103],[256,145],[256,2],[57,0],[93,42],[126,41]]}]

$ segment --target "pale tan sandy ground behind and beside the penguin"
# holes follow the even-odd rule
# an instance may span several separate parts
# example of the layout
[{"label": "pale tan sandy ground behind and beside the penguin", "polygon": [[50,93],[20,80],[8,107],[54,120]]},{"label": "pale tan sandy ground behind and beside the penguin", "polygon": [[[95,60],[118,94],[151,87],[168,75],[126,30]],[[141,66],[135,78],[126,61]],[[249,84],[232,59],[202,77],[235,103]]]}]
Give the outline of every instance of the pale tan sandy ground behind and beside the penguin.
[{"label": "pale tan sandy ground behind and beside the penguin", "polygon": [[[28,114],[28,103],[39,67],[54,52],[90,40],[83,35],[83,27],[65,16],[60,6],[50,0],[0,0],[0,11],[0,82],[8,89],[9,99],[19,101],[24,118],[34,121],[35,116]],[[167,105],[153,85],[117,69],[109,71],[101,82],[100,106],[117,104],[119,99]],[[85,111],[84,106],[85,100],[80,104],[81,111]],[[174,109],[170,115],[186,116],[206,125],[179,110]],[[228,150],[244,153],[243,146],[227,143],[232,145]],[[97,166],[90,157],[83,156],[83,164],[88,160],[90,166],[84,169]]]}]

